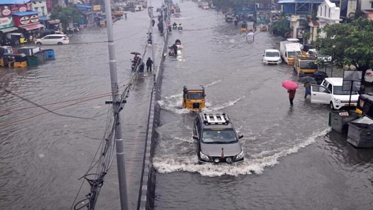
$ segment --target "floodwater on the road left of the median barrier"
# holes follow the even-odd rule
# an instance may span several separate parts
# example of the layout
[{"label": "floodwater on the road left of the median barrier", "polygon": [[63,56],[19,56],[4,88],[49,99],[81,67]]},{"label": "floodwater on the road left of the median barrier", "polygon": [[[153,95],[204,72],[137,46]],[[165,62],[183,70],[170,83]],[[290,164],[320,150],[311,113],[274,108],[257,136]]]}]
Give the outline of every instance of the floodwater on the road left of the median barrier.
[{"label": "floodwater on the road left of the median barrier", "polygon": [[[161,5],[160,0],[156,3],[155,6]],[[143,52],[148,27],[147,10],[129,12],[127,19],[113,25],[121,86],[132,74],[130,52]],[[163,46],[162,39],[153,36],[157,49]],[[70,36],[71,43],[106,40],[106,28],[98,27]],[[14,93],[0,89],[0,209],[3,210],[70,209],[81,184],[78,178],[91,164],[103,137],[107,115],[112,115],[110,105],[104,103],[111,94],[107,43],[45,48],[55,50],[55,61],[34,68],[0,69],[1,87]],[[151,57],[151,52],[148,47],[146,58]],[[152,85],[153,76],[145,72],[145,77],[135,82],[121,112],[130,209],[137,207]],[[86,119],[29,108],[34,105],[18,96],[40,105],[69,100],[45,107],[61,115]],[[88,193],[86,182],[78,201]],[[119,206],[114,157],[96,207],[119,209]]]}]

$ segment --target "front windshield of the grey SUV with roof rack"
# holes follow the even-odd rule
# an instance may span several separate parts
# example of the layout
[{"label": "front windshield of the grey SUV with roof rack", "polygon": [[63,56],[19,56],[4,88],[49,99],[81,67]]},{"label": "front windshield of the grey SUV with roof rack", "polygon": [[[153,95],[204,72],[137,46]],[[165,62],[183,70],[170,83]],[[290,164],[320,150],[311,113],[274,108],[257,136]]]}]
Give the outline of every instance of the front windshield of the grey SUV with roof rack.
[{"label": "front windshield of the grey SUV with roof rack", "polygon": [[237,142],[233,129],[205,129],[202,135],[203,143],[234,143]]}]

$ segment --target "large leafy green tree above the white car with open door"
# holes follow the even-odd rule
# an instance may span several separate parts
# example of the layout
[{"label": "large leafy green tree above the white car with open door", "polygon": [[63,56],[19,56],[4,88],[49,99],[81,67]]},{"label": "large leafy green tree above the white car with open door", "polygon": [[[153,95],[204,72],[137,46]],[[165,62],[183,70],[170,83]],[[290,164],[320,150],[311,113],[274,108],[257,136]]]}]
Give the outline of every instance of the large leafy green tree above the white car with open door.
[{"label": "large leafy green tree above the white car with open door", "polygon": [[316,49],[331,56],[337,67],[351,65],[363,71],[363,75],[373,67],[372,21],[358,18],[350,23],[327,25],[322,31],[326,37],[316,40]]}]

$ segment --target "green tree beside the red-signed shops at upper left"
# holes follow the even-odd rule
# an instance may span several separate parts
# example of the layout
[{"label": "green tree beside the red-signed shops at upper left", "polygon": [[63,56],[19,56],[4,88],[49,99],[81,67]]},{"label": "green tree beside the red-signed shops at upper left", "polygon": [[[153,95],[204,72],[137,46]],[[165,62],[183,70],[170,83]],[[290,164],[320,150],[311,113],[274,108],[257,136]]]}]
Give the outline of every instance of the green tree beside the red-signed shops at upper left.
[{"label": "green tree beside the red-signed shops at upper left", "polygon": [[62,7],[56,5],[53,7],[51,18],[60,19],[62,27],[66,31],[67,25],[71,20],[73,20],[73,22],[82,20],[82,11],[77,7]]}]

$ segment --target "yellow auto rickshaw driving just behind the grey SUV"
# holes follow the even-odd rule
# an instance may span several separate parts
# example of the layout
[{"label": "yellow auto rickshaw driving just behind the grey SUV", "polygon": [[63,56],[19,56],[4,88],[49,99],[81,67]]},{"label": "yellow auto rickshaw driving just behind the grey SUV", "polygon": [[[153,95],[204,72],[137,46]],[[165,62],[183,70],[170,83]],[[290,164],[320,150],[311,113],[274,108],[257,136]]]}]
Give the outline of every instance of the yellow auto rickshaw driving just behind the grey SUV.
[{"label": "yellow auto rickshaw driving just behind the grey SUV", "polygon": [[183,89],[183,107],[194,112],[205,107],[205,94],[203,86],[187,87]]}]

